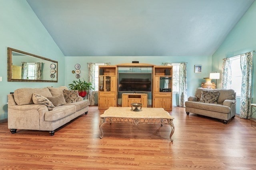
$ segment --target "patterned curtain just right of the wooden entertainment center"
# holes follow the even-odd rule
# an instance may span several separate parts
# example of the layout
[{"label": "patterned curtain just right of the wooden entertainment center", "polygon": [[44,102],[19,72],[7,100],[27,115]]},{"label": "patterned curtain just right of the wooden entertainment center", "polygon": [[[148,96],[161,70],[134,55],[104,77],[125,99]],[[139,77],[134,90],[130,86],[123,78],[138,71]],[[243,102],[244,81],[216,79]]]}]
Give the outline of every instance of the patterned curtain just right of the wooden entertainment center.
[{"label": "patterned curtain just right of the wooden entertainment center", "polygon": [[179,99],[180,99],[180,107],[185,107],[185,101],[188,99],[188,87],[187,87],[187,64],[180,63],[179,70]]}]

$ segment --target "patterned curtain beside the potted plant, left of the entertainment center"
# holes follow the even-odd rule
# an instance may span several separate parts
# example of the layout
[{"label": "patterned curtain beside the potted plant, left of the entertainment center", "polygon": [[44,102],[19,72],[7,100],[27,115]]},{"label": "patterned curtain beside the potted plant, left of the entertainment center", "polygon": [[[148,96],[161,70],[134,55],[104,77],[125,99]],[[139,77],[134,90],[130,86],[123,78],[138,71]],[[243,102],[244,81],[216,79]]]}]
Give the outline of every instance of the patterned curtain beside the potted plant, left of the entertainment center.
[{"label": "patterned curtain beside the potted plant, left of the entertainment center", "polygon": [[[87,63],[88,65],[88,81],[92,83],[92,87],[95,88],[95,63]],[[88,99],[90,105],[94,105],[95,103],[95,93],[93,90],[88,91]]]}]

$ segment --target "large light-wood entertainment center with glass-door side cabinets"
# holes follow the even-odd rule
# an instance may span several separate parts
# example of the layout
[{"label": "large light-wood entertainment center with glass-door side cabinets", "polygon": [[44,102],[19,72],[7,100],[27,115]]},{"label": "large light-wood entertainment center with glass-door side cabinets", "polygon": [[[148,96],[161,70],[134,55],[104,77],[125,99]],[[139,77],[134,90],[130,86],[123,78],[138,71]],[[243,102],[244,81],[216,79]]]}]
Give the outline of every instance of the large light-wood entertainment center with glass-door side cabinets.
[{"label": "large light-wood entertainment center with glass-door side cabinets", "polygon": [[118,107],[118,97],[122,97],[122,107],[142,103],[142,107],[162,107],[171,111],[172,66],[143,63],[99,66],[98,91],[99,109]]}]

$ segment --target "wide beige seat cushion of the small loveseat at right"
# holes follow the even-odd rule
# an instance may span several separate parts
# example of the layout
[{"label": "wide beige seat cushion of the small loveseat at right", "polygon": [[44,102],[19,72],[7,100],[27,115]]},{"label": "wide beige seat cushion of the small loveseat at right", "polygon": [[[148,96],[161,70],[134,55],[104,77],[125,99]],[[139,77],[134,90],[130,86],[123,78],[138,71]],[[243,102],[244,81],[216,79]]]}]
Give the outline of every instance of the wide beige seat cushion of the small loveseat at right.
[{"label": "wide beige seat cushion of the small loveseat at right", "polygon": [[202,109],[207,111],[214,111],[220,113],[230,113],[230,107],[212,103],[202,103],[198,101],[186,101],[186,107],[192,107],[196,109]]}]

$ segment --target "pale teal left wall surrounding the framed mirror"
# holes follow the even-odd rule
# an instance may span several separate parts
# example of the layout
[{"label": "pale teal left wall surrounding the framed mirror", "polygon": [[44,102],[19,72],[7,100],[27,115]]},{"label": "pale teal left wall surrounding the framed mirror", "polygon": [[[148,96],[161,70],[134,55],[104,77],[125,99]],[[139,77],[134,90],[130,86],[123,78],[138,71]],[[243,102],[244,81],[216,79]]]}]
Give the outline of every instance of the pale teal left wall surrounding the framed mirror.
[{"label": "pale teal left wall surrounding the framed mirror", "polygon": [[[7,118],[7,95],[22,87],[65,84],[64,55],[26,0],[0,0],[0,121]],[[7,47],[58,61],[58,83],[8,82]]]}]

